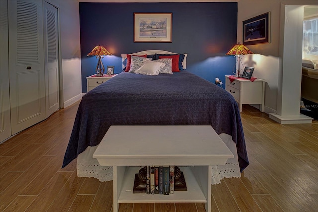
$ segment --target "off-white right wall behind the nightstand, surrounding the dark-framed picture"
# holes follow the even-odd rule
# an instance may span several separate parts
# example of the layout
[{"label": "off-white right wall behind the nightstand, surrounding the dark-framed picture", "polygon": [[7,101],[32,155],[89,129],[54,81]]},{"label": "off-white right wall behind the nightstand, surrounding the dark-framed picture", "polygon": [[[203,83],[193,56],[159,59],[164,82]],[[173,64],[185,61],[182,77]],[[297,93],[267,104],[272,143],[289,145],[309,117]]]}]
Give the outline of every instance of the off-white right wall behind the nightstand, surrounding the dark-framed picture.
[{"label": "off-white right wall behind the nightstand, surrounding the dark-framed picture", "polygon": [[[270,43],[247,46],[251,51],[259,54],[251,58],[244,58],[243,63],[254,64],[253,77],[266,80],[265,112],[277,111],[280,67],[280,15],[281,4],[285,5],[318,5],[317,0],[241,0],[238,2],[238,35],[237,42],[243,41],[242,22],[249,18],[270,12]],[[301,50],[299,50],[301,51]],[[278,99],[280,101],[280,99]]]}]

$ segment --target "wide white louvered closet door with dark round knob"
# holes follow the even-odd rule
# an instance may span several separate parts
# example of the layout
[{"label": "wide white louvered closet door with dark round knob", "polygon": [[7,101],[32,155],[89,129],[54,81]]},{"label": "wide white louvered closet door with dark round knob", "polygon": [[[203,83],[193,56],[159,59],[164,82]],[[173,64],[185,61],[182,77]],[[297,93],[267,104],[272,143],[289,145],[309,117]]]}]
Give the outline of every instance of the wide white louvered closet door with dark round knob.
[{"label": "wide white louvered closet door with dark round knob", "polygon": [[9,0],[12,135],[46,117],[41,0]]}]

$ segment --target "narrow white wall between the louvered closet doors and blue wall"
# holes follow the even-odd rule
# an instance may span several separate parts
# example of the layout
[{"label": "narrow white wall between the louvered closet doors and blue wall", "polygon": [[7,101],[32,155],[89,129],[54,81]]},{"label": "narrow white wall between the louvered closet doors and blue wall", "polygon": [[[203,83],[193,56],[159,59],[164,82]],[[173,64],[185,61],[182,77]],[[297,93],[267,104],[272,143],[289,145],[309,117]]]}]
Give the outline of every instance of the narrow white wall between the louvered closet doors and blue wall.
[{"label": "narrow white wall between the louvered closet doors and blue wall", "polygon": [[79,2],[46,0],[59,9],[62,101],[67,107],[81,98]]}]

